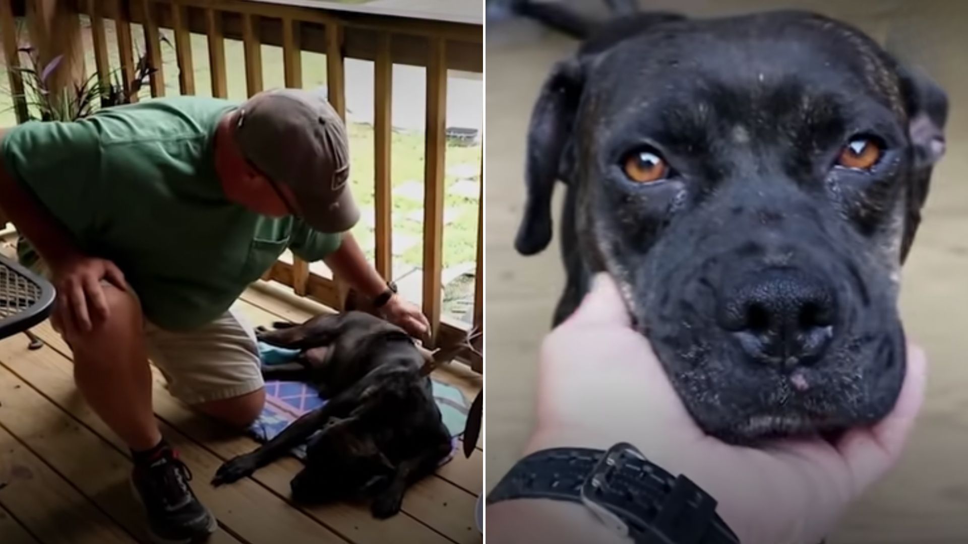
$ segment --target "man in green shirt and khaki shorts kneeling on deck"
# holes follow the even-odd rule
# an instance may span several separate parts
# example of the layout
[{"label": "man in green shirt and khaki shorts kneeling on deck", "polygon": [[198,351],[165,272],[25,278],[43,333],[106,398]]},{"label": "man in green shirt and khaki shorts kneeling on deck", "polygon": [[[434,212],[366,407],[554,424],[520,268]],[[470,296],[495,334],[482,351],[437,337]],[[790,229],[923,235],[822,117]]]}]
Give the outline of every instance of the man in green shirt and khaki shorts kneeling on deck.
[{"label": "man in green shirt and khaki shorts kneeling on deck", "polygon": [[323,259],[410,334],[428,329],[348,233],[359,212],[346,129],[313,93],[107,108],[26,123],[0,148],[0,207],[30,243],[21,261],[57,287],[52,322],[74,351],[77,387],[131,447],[157,540],[217,525],[159,432],[148,357],[173,395],[252,423],[265,399],[257,344],[229,307],[287,248]]}]

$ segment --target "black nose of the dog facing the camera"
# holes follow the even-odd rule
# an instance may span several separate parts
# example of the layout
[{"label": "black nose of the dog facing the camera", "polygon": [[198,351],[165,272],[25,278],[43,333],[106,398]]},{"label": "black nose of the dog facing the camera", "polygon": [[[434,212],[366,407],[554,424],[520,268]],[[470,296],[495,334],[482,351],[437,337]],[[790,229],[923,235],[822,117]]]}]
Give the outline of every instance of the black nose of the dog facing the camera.
[{"label": "black nose of the dog facing the camera", "polygon": [[754,360],[793,367],[823,354],[835,315],[827,283],[800,270],[773,268],[725,293],[718,318]]}]

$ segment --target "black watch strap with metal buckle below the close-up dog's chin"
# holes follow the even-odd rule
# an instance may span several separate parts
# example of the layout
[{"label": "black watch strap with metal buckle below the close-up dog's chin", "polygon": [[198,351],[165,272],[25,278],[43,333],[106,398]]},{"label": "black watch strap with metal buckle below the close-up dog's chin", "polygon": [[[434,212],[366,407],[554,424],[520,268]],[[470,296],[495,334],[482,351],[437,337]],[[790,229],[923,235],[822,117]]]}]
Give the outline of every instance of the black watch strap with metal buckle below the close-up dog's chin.
[{"label": "black watch strap with metal buckle below the close-up dog's chin", "polygon": [[674,477],[635,447],[608,451],[554,448],[518,462],[487,503],[555,499],[585,504],[604,524],[636,543],[739,544],[715,513],[716,500],[685,476]]}]

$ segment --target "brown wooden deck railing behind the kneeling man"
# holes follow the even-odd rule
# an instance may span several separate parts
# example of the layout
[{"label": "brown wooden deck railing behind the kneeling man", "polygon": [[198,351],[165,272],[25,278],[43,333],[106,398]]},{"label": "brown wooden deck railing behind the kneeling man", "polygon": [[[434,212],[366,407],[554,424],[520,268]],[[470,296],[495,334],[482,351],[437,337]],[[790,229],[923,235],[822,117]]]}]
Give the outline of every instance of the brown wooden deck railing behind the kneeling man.
[{"label": "brown wooden deck railing behind the kneeling man", "polygon": [[[12,3],[13,1],[13,3]],[[50,2],[52,0],[26,0]],[[108,66],[105,18],[114,20],[120,70],[125,85],[135,79],[136,58],[132,24],[142,25],[148,61],[157,69],[150,77],[152,97],[165,94],[165,70],[161,59],[160,29],[172,29],[178,64],[181,94],[195,94],[190,33],[207,36],[212,96],[227,98],[227,63],[224,41],[242,40],[245,51],[245,80],[251,96],[263,88],[260,45],[283,48],[285,83],[301,87],[301,53],[314,51],[326,55],[326,78],[330,104],[346,119],[346,75],[344,59],[374,62],[375,70],[375,235],[376,266],[384,277],[392,277],[390,217],[391,187],[391,94],[394,64],[426,68],[426,139],[424,145],[423,212],[423,296],[424,314],[432,323],[434,344],[446,346],[459,341],[465,327],[441,317],[441,268],[444,201],[444,154],[446,150],[447,70],[483,72],[483,31],[481,26],[422,20],[388,15],[367,15],[327,11],[246,0],[81,0],[80,13],[90,16],[96,70],[107,83]],[[17,66],[14,16],[23,1],[0,0],[0,32],[8,66]],[[13,8],[12,8],[13,6]],[[19,8],[19,9],[22,9]],[[11,88],[22,92],[14,71]],[[127,91],[128,89],[126,89]],[[26,118],[25,106],[17,103],[18,119]],[[482,105],[475,105],[481,106]],[[359,153],[360,150],[354,150]],[[483,154],[482,154],[483,158]],[[483,161],[481,165],[479,213],[483,213]],[[477,263],[473,321],[483,330],[483,219],[478,220]],[[309,264],[293,257],[291,264],[277,262],[266,274],[292,287],[297,294],[309,296],[335,308],[342,306],[345,290],[339,278],[329,279],[310,271]],[[483,346],[483,339],[480,341]],[[471,356],[471,367],[481,371],[480,357]]]}]

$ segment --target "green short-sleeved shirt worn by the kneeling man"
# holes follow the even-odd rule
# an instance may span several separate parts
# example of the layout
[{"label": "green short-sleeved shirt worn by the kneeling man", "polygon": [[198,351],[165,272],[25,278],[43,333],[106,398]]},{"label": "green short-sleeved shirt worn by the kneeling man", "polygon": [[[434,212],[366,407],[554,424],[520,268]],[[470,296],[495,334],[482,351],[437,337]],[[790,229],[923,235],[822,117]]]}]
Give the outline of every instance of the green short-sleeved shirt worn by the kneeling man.
[{"label": "green short-sleeved shirt worn by the kneeling man", "polygon": [[[227,199],[213,141],[235,106],[180,97],[25,123],[4,138],[4,164],[82,252],[121,268],[145,317],[190,330],[222,315],[287,248],[313,261],[342,240]],[[36,260],[29,248],[21,255]]]}]

